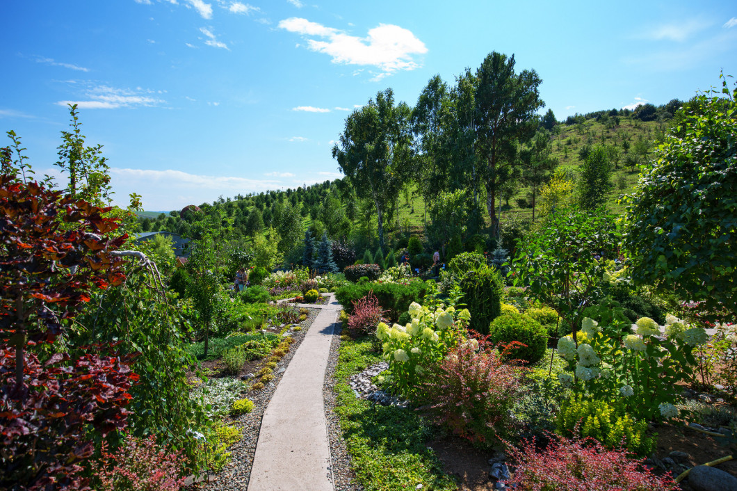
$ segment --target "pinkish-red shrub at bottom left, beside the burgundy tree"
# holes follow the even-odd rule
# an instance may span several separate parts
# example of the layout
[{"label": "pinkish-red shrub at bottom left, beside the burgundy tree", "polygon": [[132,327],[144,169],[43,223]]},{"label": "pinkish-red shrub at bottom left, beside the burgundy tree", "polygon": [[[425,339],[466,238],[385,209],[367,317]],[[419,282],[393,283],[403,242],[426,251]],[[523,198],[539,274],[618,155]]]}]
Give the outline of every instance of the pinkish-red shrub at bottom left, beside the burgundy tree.
[{"label": "pinkish-red shrub at bottom left, beside the burgundy tree", "polygon": [[156,437],[126,436],[115,453],[102,442],[99,462],[92,464],[98,491],[176,491],[184,487],[182,451],[172,452],[156,445]]}]

